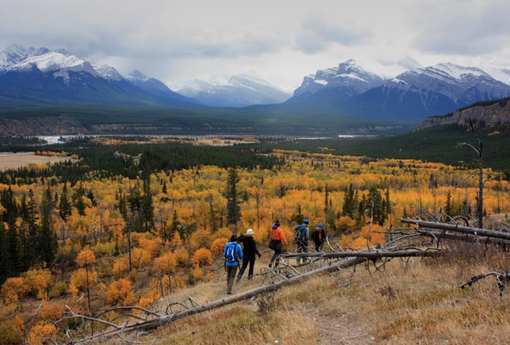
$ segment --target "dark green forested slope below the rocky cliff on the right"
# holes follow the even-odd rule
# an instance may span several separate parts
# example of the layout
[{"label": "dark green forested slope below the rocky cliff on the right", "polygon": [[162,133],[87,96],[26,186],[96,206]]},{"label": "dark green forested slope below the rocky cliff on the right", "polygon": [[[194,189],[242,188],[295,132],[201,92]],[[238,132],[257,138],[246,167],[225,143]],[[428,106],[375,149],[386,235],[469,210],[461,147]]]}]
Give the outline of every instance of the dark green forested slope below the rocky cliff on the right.
[{"label": "dark green forested slope below the rocky cliff on the right", "polygon": [[[499,133],[499,134],[498,134]],[[510,130],[483,129],[478,136],[484,144],[484,166],[510,170]],[[323,152],[333,155],[369,156],[374,158],[421,159],[453,166],[473,167],[476,153],[460,143],[476,144],[473,133],[459,126],[440,126],[418,132],[372,139],[288,140],[261,144],[266,152],[274,148]]]}]

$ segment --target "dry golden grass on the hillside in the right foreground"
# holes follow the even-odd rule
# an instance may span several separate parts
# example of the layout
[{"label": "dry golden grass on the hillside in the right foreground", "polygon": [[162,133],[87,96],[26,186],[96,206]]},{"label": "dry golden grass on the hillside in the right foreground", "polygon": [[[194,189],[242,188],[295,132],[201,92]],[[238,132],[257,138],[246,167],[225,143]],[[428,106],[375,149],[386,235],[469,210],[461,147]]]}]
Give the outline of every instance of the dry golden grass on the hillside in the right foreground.
[{"label": "dry golden grass on the hillside in the right foreground", "polygon": [[[444,259],[394,259],[383,272],[365,265],[314,277],[276,293],[275,311],[256,301],[195,315],[154,333],[164,344],[510,344],[510,291],[499,297],[493,277],[465,290],[474,275],[507,265],[504,253],[454,245]],[[258,266],[266,260],[258,260]],[[508,266],[507,266],[508,267]],[[257,270],[256,270],[257,271]],[[501,270],[500,270],[501,271]],[[257,285],[245,279],[237,291]],[[172,295],[199,302],[224,296],[223,278]],[[169,298],[170,299],[170,298]],[[165,301],[166,302],[166,301]],[[249,335],[249,336],[248,336]]]}]

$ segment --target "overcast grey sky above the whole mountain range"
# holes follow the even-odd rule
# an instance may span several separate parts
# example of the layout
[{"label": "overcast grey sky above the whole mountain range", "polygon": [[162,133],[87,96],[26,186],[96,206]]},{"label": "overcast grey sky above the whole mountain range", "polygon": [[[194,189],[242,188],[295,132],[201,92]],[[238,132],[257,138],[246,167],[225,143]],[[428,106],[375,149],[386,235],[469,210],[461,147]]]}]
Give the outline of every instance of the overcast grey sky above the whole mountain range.
[{"label": "overcast grey sky above the whole mountain range", "polygon": [[350,58],[510,63],[509,0],[0,0],[0,50],[65,48],[166,83],[255,70],[296,85]]}]

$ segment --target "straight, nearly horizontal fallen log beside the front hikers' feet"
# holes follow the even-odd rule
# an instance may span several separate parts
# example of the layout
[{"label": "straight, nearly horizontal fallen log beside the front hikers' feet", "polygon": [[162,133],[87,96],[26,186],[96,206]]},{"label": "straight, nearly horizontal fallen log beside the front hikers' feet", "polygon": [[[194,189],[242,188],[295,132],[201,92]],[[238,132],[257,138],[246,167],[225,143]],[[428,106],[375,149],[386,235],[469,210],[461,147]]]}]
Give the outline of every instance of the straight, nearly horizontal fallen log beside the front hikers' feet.
[{"label": "straight, nearly horizontal fallen log beside the front hikers' feet", "polygon": [[346,252],[346,253],[286,253],[283,257],[323,257],[325,259],[342,257],[362,257],[364,259],[381,259],[383,257],[433,257],[445,253],[445,250],[400,250],[395,252]]}]

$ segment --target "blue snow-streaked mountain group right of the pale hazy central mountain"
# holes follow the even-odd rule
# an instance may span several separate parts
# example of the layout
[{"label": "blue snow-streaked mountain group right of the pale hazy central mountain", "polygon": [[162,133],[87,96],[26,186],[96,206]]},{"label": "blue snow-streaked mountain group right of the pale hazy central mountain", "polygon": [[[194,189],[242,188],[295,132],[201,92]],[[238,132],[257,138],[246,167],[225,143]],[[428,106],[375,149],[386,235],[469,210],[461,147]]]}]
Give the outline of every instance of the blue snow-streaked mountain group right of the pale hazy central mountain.
[{"label": "blue snow-streaked mountain group right of the pale hazy central mountain", "polygon": [[411,57],[389,66],[350,59],[305,77],[283,107],[412,121],[509,95],[510,67],[504,64],[425,68]]}]

